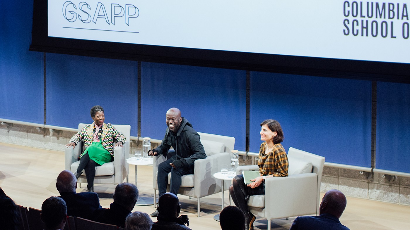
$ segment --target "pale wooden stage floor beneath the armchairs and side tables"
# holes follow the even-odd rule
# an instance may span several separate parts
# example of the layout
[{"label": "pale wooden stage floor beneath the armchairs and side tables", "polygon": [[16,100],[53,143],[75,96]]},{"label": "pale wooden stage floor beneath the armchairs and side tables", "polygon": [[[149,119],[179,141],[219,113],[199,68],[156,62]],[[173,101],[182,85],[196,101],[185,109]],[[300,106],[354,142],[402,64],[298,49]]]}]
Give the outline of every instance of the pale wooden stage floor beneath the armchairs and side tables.
[{"label": "pale wooden stage floor beneath the armchairs and side tables", "polygon": [[[60,171],[64,170],[64,152],[23,147],[0,143],[0,187],[17,204],[41,209],[43,201],[50,196],[59,196],[55,182]],[[130,165],[129,181],[135,182],[134,165]],[[138,189],[140,194],[153,194],[152,166],[138,167]],[[77,192],[86,191],[86,185]],[[112,203],[115,185],[94,185],[103,207]],[[323,194],[321,194],[323,196]],[[189,217],[189,227],[196,229],[221,229],[213,217],[221,211],[221,193],[201,199],[201,217],[196,216],[196,199],[178,195],[182,206],[181,214]],[[228,192],[225,191],[225,206],[229,205]],[[155,209],[150,206],[135,206],[133,211],[150,214]],[[371,201],[360,198],[347,198],[347,207],[340,221],[351,230],[410,229],[410,206]],[[294,217],[272,220],[272,229],[285,230],[292,225]],[[156,221],[156,218],[153,218]],[[267,222],[258,218],[255,229],[266,229]]]}]

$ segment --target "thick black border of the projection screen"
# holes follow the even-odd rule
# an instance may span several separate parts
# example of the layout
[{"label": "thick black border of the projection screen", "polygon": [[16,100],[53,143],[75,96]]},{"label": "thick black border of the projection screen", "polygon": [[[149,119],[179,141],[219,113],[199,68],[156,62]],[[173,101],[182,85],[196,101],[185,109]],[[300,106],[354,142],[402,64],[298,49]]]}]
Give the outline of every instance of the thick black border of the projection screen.
[{"label": "thick black border of the projection screen", "polygon": [[47,1],[34,0],[30,51],[261,72],[410,83],[410,64],[89,41],[48,36]]}]

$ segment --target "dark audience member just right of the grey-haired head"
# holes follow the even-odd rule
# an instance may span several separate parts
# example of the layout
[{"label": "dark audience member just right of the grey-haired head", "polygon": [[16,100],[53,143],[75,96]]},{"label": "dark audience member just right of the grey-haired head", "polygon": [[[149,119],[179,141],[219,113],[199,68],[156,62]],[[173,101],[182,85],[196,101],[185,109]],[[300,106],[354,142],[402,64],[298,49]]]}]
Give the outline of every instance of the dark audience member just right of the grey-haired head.
[{"label": "dark audience member just right of the grey-haired head", "polygon": [[153,223],[153,230],[191,230],[187,215],[178,217],[181,211],[178,197],[173,193],[166,193],[158,199],[157,222]]}]

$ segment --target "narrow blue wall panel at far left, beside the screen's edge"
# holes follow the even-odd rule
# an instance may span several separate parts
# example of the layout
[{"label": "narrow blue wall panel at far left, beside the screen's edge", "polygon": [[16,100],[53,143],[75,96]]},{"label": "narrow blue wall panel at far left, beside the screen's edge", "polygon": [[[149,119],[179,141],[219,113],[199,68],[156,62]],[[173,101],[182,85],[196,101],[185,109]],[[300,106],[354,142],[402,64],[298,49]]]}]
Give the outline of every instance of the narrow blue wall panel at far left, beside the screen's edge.
[{"label": "narrow blue wall panel at far left, beside the screen's edge", "polygon": [[0,117],[43,124],[43,54],[28,51],[33,3],[0,1],[0,11]]}]

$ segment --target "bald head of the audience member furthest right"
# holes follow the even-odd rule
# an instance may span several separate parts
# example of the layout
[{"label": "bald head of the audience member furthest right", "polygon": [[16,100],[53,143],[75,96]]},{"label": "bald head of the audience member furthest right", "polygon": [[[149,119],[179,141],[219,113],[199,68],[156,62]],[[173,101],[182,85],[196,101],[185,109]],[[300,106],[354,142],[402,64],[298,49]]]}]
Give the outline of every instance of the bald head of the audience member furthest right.
[{"label": "bald head of the audience member furthest right", "polygon": [[332,189],[326,192],[323,196],[322,203],[320,203],[319,213],[328,213],[340,218],[346,207],[346,196],[337,189]]}]

